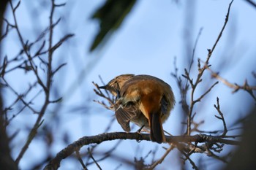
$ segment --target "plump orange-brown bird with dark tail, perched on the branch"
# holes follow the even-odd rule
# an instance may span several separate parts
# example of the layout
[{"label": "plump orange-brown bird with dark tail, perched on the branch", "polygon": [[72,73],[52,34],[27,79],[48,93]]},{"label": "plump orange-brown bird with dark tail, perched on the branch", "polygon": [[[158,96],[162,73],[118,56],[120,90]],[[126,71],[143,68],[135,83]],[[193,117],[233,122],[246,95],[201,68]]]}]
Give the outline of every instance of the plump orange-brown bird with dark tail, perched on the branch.
[{"label": "plump orange-brown bird with dark tail, perched on the branch", "polygon": [[99,88],[116,97],[115,115],[124,131],[131,131],[129,122],[132,122],[150,130],[152,142],[166,141],[162,123],[176,103],[170,85],[146,74],[121,74]]}]

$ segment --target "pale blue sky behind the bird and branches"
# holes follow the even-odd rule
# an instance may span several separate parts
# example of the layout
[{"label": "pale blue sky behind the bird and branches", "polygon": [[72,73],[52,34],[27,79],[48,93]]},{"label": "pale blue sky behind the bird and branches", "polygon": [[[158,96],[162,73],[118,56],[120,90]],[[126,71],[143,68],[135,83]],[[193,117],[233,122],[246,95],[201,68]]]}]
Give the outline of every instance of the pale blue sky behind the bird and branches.
[{"label": "pale blue sky behind the bird and branches", "polygon": [[[64,97],[61,107],[56,110],[56,107],[51,106],[45,114],[44,123],[49,124],[56,132],[56,141],[47,152],[55,155],[56,152],[63,149],[67,144],[58,139],[62,139],[65,135],[69,137],[68,141],[71,143],[82,136],[102,134],[105,131],[113,117],[113,112],[104,109],[93,101],[93,99],[102,100],[94,94],[94,85],[91,83],[94,81],[102,85],[99,75],[105,83],[119,74],[127,73],[150,74],[167,82],[173,88],[176,96],[176,107],[164,128],[170,134],[181,135],[180,93],[176,80],[170,75],[175,70],[173,62],[176,58],[178,74],[184,74],[184,68],[188,68],[195,39],[201,28],[203,30],[195,49],[195,61],[197,58],[206,61],[207,49],[211,49],[217,39],[225,22],[230,1],[178,1],[177,3],[171,0],[138,1],[132,12],[124,20],[121,28],[110,37],[105,46],[94,53],[89,53],[89,46],[99,29],[99,25],[97,20],[91,20],[90,17],[104,1],[69,0],[56,2],[58,4],[66,2],[67,4],[65,7],[56,9],[55,20],[61,17],[61,22],[55,30],[53,42],[58,42],[67,33],[73,33],[75,37],[69,39],[56,51],[53,60],[53,66],[57,66],[59,63],[67,63],[67,66],[61,69],[53,81],[53,87],[58,91],[54,97]],[[21,1],[17,10],[17,19],[20,30],[26,39],[33,41],[48,26],[49,11],[48,1]],[[10,8],[7,10],[6,18],[12,21]],[[255,18],[256,9],[254,7],[243,0],[233,1],[230,20],[210,60],[211,69],[214,72],[220,71],[219,74],[232,83],[236,82],[242,85],[244,80],[248,80],[249,85],[255,83],[251,74],[252,71],[255,71],[256,63]],[[10,58],[17,55],[20,50],[17,39],[15,32],[10,33],[2,43],[2,54]],[[40,74],[43,76],[44,72]],[[197,63],[192,66],[191,75],[194,79],[196,78]],[[33,79],[32,73],[12,72],[7,75],[10,84],[20,91],[26,89],[27,82],[33,82]],[[211,74],[206,71],[203,83],[197,89],[195,96],[200,96],[213,82]],[[8,104],[13,100],[12,93],[7,91],[5,95],[8,96],[5,101]],[[217,96],[220,99],[222,112],[225,114],[227,127],[231,127],[240,117],[244,117],[253,104],[249,94],[240,91],[232,93],[230,88],[220,82],[208,94],[207,98],[195,107],[196,120],[205,120],[205,123],[200,126],[205,131],[222,128],[222,122],[214,117],[217,114],[213,107],[216,104]],[[39,96],[35,100],[38,107],[40,107],[42,98],[43,96]],[[61,117],[57,123],[51,122],[53,112]],[[36,115],[20,115],[10,125],[8,131],[12,133],[21,125],[31,128],[36,118]],[[22,146],[17,145],[17,143],[22,143],[26,139],[26,128],[21,129],[12,142],[14,157],[17,156]],[[134,128],[134,131],[136,130],[137,128]],[[123,130],[115,121],[110,131]],[[232,133],[230,131],[230,134]],[[113,144],[116,142],[100,144],[97,151],[109,150]],[[161,146],[165,146],[165,144],[161,144]],[[125,155],[133,161],[134,156],[137,158],[144,157],[149,150],[154,150],[155,147],[159,147],[157,152],[159,158],[163,150],[158,144],[137,143],[127,140],[121,142],[115,154],[123,156],[125,152]],[[20,162],[20,169],[29,169],[31,158],[33,158],[32,164],[37,163],[37,160],[39,162],[45,155],[45,152],[41,151],[42,148],[45,148],[44,142],[35,139]],[[138,148],[143,152],[136,153]],[[227,150],[229,149],[227,147]],[[87,147],[83,147],[83,150],[86,151]],[[206,155],[195,154],[192,158],[195,160],[203,158],[207,164],[206,169],[216,169],[222,165],[219,161],[210,160]],[[78,161],[71,160],[75,163],[69,163],[69,161],[62,161],[60,169],[80,168]],[[115,160],[107,160],[100,162],[100,164],[104,169],[115,169],[118,166]],[[173,165],[173,169],[178,169],[179,158],[176,151],[167,157],[159,169],[166,169],[165,166],[170,164]],[[95,166],[92,166],[90,169],[94,168]],[[121,166],[120,169],[126,168],[127,166]],[[191,166],[187,165],[187,168],[191,169]]]}]

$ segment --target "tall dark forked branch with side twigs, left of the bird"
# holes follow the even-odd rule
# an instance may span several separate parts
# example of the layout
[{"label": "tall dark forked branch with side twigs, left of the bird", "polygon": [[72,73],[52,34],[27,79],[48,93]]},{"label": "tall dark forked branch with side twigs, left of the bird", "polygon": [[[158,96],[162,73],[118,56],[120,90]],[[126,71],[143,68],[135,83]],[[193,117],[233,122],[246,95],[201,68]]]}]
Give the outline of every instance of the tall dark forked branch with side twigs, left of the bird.
[{"label": "tall dark forked branch with side twigs, left of the bird", "polygon": [[[25,53],[27,59],[25,61],[23,61],[22,63],[18,64],[18,66],[14,66],[12,69],[9,69],[7,72],[11,72],[12,70],[15,70],[15,69],[24,69],[26,72],[29,72],[31,70],[32,72],[34,72],[34,76],[37,77],[37,83],[41,86],[42,90],[45,93],[45,100],[42,102],[41,109],[39,109],[39,111],[36,112],[31,107],[31,102],[32,101],[30,101],[29,103],[26,103],[26,101],[23,100],[23,96],[20,96],[20,101],[23,102],[24,106],[29,107],[29,109],[31,109],[32,112],[37,113],[38,117],[37,117],[36,122],[34,123],[33,128],[31,128],[31,130],[29,132],[29,136],[26,139],[25,144],[23,145],[22,149],[20,150],[20,153],[18,154],[18,157],[15,160],[15,162],[17,164],[20,162],[20,159],[23,157],[24,153],[29,148],[29,144],[31,143],[31,141],[37,135],[37,130],[40,127],[40,125],[42,125],[42,123],[43,123],[42,117],[43,117],[43,115],[45,115],[45,111],[48,108],[48,105],[61,101],[61,98],[58,98],[56,100],[50,100],[50,90],[51,90],[51,86],[52,86],[52,82],[53,82],[53,75],[56,74],[56,72],[59,72],[59,69],[61,69],[61,67],[65,65],[63,63],[60,66],[58,66],[57,69],[53,70],[53,66],[52,66],[53,53],[58,47],[60,47],[60,45],[63,42],[67,41],[67,39],[69,39],[70,37],[72,37],[74,35],[74,34],[67,34],[62,39],[60,39],[59,42],[56,43],[56,45],[53,45],[53,28],[60,21],[60,19],[59,19],[56,22],[53,22],[54,10],[55,10],[55,7],[61,7],[64,4],[56,5],[54,3],[54,0],[52,0],[51,1],[51,9],[50,9],[50,20],[49,20],[48,28],[46,28],[44,31],[42,31],[42,34],[40,34],[34,42],[31,42],[31,43],[29,43],[29,41],[25,42],[24,39],[23,39],[22,34],[20,33],[20,29],[19,29],[19,26],[18,26],[18,21],[16,19],[16,15],[15,15],[15,11],[18,9],[19,5],[20,5],[20,1],[18,2],[18,4],[16,6],[14,6],[12,4],[12,1],[10,1],[10,6],[11,6],[11,9],[12,9],[12,17],[13,17],[14,22],[15,22],[14,28],[15,28],[15,31],[18,33],[19,42],[22,46],[22,50],[20,50],[19,55]],[[30,51],[31,47],[33,45],[35,45],[37,42],[39,42],[41,39],[43,39],[45,37],[46,33],[48,33],[48,32],[49,32],[48,50],[42,51],[45,47],[45,41],[43,41],[42,45],[39,47],[39,49],[37,50],[35,55],[31,55],[31,51]],[[39,55],[42,55],[42,54],[47,54],[48,55],[47,61],[43,60],[41,57],[39,57]],[[47,74],[44,74],[45,75],[44,80],[46,80],[45,82],[42,79],[42,75],[40,74],[40,76],[39,76],[39,66],[37,66],[37,62],[34,61],[34,58],[39,58],[39,61],[41,61],[47,68],[46,69]],[[12,61],[17,61],[17,60],[18,60],[18,56],[16,58],[12,59]],[[11,62],[11,61],[9,61],[9,62]],[[8,64],[8,62],[6,64],[4,64],[3,67],[1,68],[3,71],[5,71],[5,66],[7,64]],[[40,69],[42,69],[42,68],[40,68]],[[42,69],[42,70],[45,71],[44,69]],[[5,72],[5,73],[7,73],[7,72]],[[4,74],[2,73],[1,76],[4,76]],[[6,85],[7,85],[7,82],[6,82]],[[18,95],[18,93],[16,93],[16,95]],[[16,114],[16,115],[18,115],[18,114]]]}]

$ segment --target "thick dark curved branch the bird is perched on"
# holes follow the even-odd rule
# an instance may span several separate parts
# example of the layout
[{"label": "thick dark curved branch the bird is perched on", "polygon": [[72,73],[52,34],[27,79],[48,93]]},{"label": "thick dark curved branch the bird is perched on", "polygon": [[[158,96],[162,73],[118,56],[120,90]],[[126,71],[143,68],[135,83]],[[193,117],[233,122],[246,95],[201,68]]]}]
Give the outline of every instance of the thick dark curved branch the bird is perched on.
[{"label": "thick dark curved branch the bird is perched on", "polygon": [[[113,133],[105,133],[99,134],[96,136],[84,136],[78,141],[69,144],[66,148],[57,153],[56,157],[53,158],[47,166],[45,166],[44,170],[53,170],[58,169],[61,161],[64,158],[67,158],[76,150],[80,150],[81,147],[88,144],[99,144],[105,141],[116,140],[116,139],[136,139],[138,141],[146,140],[150,141],[149,134],[138,134],[138,133],[126,133],[126,132],[113,132]],[[207,136],[203,134],[198,134],[194,136],[165,136],[167,142],[210,142],[210,143],[222,143],[222,144],[232,144],[238,145],[240,142],[222,139],[220,136]]]}]

